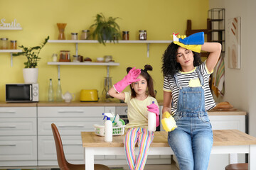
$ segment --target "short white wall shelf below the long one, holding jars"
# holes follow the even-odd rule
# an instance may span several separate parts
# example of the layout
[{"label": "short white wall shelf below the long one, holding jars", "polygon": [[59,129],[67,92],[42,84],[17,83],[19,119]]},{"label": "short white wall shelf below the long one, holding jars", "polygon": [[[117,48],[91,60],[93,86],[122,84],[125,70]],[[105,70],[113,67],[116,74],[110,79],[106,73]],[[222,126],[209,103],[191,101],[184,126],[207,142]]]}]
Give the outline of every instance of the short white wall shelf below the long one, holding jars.
[{"label": "short white wall shelf below the long one, holding jars", "polygon": [[48,62],[48,65],[119,66],[118,62]]}]

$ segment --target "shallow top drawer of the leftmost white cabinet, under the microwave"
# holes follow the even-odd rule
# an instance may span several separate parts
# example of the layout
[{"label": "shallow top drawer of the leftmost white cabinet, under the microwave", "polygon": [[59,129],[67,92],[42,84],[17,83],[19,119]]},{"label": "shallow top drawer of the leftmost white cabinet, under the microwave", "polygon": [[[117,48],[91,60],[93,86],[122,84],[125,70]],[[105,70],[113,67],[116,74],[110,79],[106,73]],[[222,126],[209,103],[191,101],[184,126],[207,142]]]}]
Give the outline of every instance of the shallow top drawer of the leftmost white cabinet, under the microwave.
[{"label": "shallow top drawer of the leftmost white cabinet, under the microwave", "polygon": [[0,107],[0,118],[36,118],[36,107]]}]

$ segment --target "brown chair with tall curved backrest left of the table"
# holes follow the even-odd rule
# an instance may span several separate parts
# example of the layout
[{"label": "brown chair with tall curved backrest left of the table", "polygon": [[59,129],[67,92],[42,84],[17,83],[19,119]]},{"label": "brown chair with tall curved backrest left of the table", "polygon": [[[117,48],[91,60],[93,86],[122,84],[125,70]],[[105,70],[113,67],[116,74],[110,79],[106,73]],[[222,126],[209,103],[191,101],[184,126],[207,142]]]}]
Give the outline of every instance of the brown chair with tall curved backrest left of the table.
[{"label": "brown chair with tall curved backrest left of the table", "polygon": [[[51,124],[51,128],[53,130],[53,137],[56,146],[58,166],[60,166],[60,170],[85,170],[85,164],[70,164],[65,159],[65,154],[63,150],[63,144],[61,141],[60,133],[58,132],[58,128],[54,123]],[[95,170],[110,170],[109,167],[102,164],[95,164]]]}]

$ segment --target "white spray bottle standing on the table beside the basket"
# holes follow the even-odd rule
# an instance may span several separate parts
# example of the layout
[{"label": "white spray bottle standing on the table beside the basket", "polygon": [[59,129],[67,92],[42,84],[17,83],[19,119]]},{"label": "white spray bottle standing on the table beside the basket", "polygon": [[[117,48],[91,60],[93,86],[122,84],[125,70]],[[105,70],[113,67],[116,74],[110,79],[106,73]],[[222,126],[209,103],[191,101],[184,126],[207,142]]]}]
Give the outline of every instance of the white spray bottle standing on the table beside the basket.
[{"label": "white spray bottle standing on the table beside the basket", "polygon": [[104,128],[104,134],[105,134],[105,142],[112,142],[112,132],[113,132],[113,125],[112,121],[110,120],[111,117],[114,117],[112,113],[102,113],[104,115],[103,120],[107,118],[105,121],[105,128]]}]

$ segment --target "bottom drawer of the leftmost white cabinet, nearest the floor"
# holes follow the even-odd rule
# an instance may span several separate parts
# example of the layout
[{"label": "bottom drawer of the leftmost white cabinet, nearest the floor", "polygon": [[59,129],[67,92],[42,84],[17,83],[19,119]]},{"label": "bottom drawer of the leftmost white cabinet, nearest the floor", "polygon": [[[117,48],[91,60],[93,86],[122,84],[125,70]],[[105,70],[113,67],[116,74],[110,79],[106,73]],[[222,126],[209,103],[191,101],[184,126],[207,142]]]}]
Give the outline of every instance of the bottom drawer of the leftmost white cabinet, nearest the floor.
[{"label": "bottom drawer of the leftmost white cabinet, nearest the floor", "polygon": [[1,162],[36,161],[36,136],[0,137],[0,160]]}]

